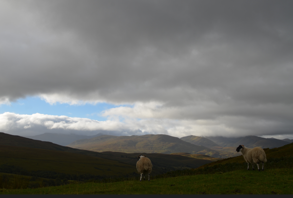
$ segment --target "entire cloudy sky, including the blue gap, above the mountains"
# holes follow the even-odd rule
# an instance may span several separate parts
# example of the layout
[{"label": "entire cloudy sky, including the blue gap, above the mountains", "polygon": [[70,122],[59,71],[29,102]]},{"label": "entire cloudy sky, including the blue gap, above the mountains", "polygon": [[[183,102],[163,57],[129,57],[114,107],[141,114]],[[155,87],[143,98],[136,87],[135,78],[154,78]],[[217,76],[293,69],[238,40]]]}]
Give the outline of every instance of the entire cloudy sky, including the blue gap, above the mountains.
[{"label": "entire cloudy sky, including the blue gap, above the mountains", "polygon": [[293,139],[292,0],[0,0],[0,132]]}]

